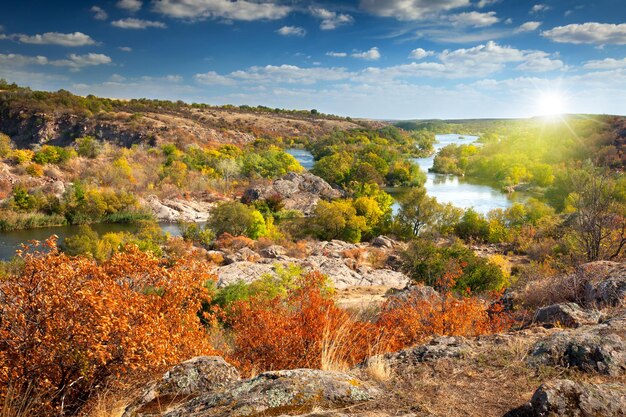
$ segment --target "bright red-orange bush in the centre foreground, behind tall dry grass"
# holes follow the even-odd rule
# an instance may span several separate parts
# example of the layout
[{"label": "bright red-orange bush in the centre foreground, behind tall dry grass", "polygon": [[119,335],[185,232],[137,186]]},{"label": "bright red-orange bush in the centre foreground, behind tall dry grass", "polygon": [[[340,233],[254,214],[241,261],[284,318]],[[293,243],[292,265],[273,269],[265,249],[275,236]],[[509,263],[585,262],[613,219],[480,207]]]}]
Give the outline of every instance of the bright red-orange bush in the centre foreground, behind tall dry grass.
[{"label": "bright red-orange bush in the centre foreground, behind tall dry grass", "polygon": [[351,363],[367,357],[368,326],[351,321],[324,293],[325,277],[312,272],[298,284],[285,299],[253,298],[233,309],[230,325],[235,351],[230,359],[245,372],[319,369],[329,339],[341,338],[343,351],[337,354]]}]

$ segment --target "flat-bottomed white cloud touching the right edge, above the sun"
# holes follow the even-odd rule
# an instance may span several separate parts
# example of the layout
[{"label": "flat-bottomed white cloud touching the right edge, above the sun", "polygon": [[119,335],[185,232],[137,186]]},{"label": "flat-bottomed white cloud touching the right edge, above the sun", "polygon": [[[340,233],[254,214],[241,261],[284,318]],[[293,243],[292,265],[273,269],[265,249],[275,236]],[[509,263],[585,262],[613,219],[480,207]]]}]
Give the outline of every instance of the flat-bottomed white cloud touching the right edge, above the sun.
[{"label": "flat-bottomed white cloud touching the right edge, above the sun", "polygon": [[626,45],[626,23],[582,23],[557,26],[541,33],[542,36],[560,43]]}]

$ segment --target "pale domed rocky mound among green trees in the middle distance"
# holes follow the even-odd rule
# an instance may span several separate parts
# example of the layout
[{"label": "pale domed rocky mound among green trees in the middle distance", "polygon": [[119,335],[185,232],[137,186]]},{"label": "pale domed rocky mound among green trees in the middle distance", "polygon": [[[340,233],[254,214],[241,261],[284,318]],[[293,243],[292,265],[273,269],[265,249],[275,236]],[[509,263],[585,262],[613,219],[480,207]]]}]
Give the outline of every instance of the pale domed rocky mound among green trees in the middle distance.
[{"label": "pale domed rocky mound among green trees in the middle distance", "polygon": [[291,172],[269,185],[257,185],[248,188],[242,197],[245,203],[280,197],[285,209],[299,210],[305,215],[313,213],[320,199],[340,198],[341,192],[335,190],[326,181],[310,173]]}]

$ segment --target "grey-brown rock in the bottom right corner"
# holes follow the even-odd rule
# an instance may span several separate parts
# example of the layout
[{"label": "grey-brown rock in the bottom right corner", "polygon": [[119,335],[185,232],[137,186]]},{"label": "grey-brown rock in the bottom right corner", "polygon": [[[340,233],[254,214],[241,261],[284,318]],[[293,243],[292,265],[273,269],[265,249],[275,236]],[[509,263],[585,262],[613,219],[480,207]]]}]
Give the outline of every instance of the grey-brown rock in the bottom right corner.
[{"label": "grey-brown rock in the bottom right corner", "polygon": [[549,381],[530,403],[505,417],[622,417],[626,415],[626,385],[588,384],[567,379]]}]

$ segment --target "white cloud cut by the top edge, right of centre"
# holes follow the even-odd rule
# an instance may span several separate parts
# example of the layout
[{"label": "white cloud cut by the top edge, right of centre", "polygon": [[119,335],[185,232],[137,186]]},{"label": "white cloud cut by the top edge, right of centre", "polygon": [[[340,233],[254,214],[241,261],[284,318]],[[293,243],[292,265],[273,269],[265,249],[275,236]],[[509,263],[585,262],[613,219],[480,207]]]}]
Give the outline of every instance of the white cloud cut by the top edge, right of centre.
[{"label": "white cloud cut by the top edge, right of centre", "polygon": [[419,20],[460,7],[470,6],[469,0],[361,0],[365,11],[398,20]]}]

